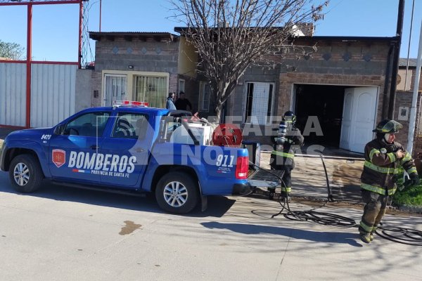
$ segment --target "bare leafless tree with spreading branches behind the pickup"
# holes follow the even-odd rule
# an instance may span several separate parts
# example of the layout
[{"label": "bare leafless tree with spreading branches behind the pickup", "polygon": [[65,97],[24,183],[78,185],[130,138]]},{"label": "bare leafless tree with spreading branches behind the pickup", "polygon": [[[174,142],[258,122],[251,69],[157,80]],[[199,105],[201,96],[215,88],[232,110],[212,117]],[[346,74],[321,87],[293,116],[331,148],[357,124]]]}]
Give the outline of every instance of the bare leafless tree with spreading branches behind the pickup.
[{"label": "bare leafless tree with spreading branches behind the pickup", "polygon": [[[316,5],[313,5],[317,2]],[[252,64],[275,66],[294,46],[296,24],[322,18],[326,0],[170,0],[177,30],[198,52],[198,72],[216,98],[217,120]]]}]

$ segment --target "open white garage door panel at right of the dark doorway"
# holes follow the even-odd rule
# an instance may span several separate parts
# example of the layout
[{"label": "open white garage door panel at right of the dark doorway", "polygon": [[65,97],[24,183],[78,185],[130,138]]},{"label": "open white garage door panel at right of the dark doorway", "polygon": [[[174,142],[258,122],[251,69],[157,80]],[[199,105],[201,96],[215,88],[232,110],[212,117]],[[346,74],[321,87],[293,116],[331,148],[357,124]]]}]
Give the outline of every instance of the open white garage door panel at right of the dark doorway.
[{"label": "open white garage door panel at right of the dark doorway", "polygon": [[376,98],[376,87],[345,89],[340,148],[364,153],[366,143],[373,138]]}]

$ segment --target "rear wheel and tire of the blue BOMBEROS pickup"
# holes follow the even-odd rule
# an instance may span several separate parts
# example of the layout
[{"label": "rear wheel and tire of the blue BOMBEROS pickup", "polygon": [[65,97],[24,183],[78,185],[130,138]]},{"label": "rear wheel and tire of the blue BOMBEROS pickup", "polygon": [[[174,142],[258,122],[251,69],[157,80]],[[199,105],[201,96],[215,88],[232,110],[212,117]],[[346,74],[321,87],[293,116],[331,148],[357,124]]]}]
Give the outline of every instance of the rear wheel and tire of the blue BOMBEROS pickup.
[{"label": "rear wheel and tire of the blue BOMBEROS pickup", "polygon": [[158,181],[155,199],[169,213],[186,214],[199,202],[198,184],[186,173],[170,172]]}]

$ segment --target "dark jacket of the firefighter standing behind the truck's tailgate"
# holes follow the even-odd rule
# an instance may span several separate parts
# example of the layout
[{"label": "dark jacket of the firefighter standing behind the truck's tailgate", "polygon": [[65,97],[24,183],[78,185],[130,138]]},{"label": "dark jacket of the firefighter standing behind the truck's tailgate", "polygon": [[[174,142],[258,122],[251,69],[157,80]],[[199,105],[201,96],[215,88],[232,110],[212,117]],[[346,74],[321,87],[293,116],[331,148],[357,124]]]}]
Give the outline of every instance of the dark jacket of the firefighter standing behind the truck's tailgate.
[{"label": "dark jacket of the firefighter standing behind the truck's tailgate", "polygon": [[283,144],[279,144],[271,138],[273,143],[273,152],[271,152],[271,167],[277,169],[277,166],[291,166],[292,169],[295,167],[293,158],[295,157],[295,150],[298,146],[303,145],[303,136],[300,130],[293,124],[288,125],[286,132],[286,141]]}]

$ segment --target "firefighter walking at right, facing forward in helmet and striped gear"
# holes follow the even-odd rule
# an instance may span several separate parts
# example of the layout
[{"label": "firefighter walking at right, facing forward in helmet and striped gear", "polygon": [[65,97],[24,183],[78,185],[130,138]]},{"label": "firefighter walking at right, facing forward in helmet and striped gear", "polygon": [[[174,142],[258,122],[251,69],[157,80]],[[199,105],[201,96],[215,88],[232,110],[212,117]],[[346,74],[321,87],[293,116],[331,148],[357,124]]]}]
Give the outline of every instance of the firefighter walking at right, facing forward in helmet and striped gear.
[{"label": "firefighter walking at right, facing forward in helmet and striped gear", "polygon": [[360,239],[365,243],[373,240],[373,233],[385,214],[388,197],[397,189],[395,183],[399,172],[407,171],[409,185],[419,184],[414,159],[401,144],[395,142],[395,133],[399,129],[402,129],[402,124],[385,119],[373,129],[376,138],[365,146],[361,190],[366,205],[359,224]]}]

